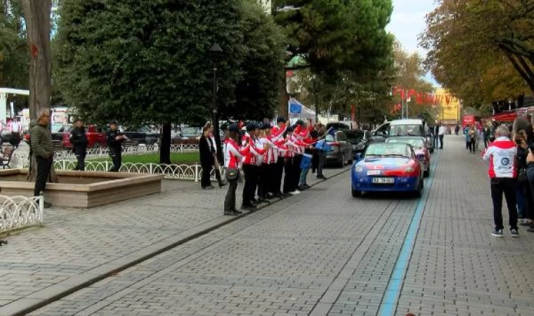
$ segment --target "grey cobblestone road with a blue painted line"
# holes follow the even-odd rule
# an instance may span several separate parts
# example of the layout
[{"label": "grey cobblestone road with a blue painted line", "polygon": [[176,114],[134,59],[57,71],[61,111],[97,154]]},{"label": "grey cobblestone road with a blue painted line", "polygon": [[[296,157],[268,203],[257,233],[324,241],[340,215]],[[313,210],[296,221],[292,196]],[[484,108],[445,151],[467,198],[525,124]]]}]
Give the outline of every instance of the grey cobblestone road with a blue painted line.
[{"label": "grey cobblestone road with a blue painted line", "polygon": [[490,236],[486,165],[445,142],[423,199],[345,173],[30,315],[534,315],[534,234]]}]

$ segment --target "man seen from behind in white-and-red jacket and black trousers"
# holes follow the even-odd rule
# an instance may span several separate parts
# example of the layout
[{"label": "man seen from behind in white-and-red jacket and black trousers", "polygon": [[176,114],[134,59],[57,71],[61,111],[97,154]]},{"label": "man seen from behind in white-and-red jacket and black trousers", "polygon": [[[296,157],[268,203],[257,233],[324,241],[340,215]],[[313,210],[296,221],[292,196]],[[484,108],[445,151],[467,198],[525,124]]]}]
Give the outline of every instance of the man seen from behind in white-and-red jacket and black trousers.
[{"label": "man seen from behind in white-and-red jacket and black trousers", "polygon": [[493,220],[495,228],[491,235],[502,237],[502,195],[506,199],[509,213],[510,235],[519,237],[517,227],[516,186],[517,186],[517,147],[509,138],[509,129],[499,126],[495,131],[495,141],[484,153],[483,159],[490,162],[491,199],[493,199]]}]

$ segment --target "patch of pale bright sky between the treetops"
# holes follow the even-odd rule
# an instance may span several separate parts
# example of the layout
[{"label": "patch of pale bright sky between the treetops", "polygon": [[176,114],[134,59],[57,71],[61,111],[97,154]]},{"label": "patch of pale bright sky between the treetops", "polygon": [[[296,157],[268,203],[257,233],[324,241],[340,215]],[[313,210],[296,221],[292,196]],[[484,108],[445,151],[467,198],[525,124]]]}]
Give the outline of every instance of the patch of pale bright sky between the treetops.
[{"label": "patch of pale bright sky between the treetops", "polygon": [[[435,7],[434,0],[393,0],[393,15],[387,27],[395,34],[406,51],[419,52],[423,57],[425,51],[417,45],[418,37],[425,28],[425,16]],[[431,76],[427,76],[431,79]],[[431,79],[435,84],[434,79]]]}]

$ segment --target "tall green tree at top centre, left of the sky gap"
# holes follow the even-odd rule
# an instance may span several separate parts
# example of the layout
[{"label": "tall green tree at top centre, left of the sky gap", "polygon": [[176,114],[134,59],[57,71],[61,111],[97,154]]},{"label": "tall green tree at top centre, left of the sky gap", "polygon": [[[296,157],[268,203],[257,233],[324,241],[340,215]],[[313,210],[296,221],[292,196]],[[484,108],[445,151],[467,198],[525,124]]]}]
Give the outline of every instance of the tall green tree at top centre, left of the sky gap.
[{"label": "tall green tree at top centre, left of the sky gap", "polygon": [[[391,0],[278,0],[275,12],[288,39],[287,59],[300,56],[314,74],[341,80],[343,74],[366,83],[391,62],[393,37],[385,30]],[[287,112],[282,98],[279,112]]]}]

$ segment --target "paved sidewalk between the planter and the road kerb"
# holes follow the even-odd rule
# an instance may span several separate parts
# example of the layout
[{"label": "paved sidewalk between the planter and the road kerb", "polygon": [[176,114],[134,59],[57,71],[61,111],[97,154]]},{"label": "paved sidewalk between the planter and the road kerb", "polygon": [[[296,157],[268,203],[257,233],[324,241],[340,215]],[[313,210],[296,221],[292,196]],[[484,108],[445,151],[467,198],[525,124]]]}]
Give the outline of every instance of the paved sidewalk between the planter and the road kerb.
[{"label": "paved sidewalk between the planter and the road kerb", "polygon": [[[348,170],[325,169],[327,177]],[[318,183],[308,176],[311,185]],[[0,315],[22,312],[230,223],[226,188],[164,181],[162,194],[89,210],[51,209],[45,228],[0,247]],[[242,184],[237,201],[240,202]],[[239,206],[239,205],[237,205]]]}]

